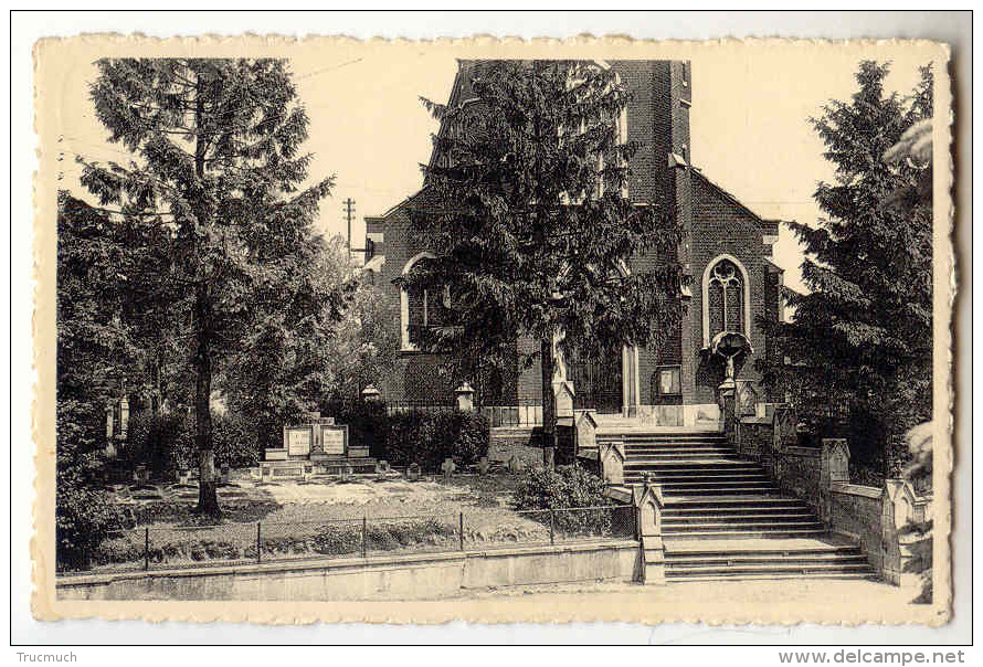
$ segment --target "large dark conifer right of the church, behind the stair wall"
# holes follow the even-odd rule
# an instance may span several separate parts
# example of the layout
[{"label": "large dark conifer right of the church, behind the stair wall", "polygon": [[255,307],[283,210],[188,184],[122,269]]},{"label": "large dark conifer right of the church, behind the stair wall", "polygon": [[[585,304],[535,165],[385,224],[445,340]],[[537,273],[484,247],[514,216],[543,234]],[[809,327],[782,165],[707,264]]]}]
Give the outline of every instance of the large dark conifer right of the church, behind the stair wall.
[{"label": "large dark conifer right of the church, behind the stair wall", "polygon": [[855,454],[881,465],[888,443],[931,419],[932,383],[932,204],[917,194],[931,168],[886,159],[906,130],[931,118],[932,75],[922,68],[902,97],[885,93],[888,72],[860,63],[853,98],[812,119],[836,168],[835,182],[815,192],[828,219],[791,224],[810,292],[785,292],[791,322],[762,322],[793,362],[764,367],[765,381],[846,396]]}]

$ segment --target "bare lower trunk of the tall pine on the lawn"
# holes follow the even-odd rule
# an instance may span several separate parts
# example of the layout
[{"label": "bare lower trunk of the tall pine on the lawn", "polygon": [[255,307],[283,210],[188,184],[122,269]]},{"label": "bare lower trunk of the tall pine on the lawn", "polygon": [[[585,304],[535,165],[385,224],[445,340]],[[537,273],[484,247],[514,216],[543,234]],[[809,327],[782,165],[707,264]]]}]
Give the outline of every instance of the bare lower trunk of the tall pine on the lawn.
[{"label": "bare lower trunk of the tall pine on the lawn", "polygon": [[194,440],[198,444],[198,509],[199,514],[219,517],[219,495],[215,478],[215,452],[212,448],[212,359],[209,348],[211,308],[207,287],[199,285],[194,299],[197,348],[194,351]]}]

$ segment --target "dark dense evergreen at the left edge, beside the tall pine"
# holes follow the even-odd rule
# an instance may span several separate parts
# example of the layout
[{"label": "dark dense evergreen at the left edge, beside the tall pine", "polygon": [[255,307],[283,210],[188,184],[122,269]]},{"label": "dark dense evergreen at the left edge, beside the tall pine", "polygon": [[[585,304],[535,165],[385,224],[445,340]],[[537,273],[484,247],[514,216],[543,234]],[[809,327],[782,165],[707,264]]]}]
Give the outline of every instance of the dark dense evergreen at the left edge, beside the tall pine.
[{"label": "dark dense evergreen at the left edge, beside the tall pine", "polygon": [[121,317],[123,272],[134,258],[120,225],[66,192],[59,193],[57,232],[56,559],[59,568],[80,568],[117,520],[101,488],[101,451],[106,405],[139,357]]}]

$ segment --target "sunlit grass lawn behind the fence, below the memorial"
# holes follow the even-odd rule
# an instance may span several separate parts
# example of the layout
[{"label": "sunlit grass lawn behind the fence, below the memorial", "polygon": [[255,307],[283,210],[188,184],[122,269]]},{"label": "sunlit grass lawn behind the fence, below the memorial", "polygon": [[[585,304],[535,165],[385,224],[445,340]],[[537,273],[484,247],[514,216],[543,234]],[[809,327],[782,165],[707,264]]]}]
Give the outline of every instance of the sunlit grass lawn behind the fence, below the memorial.
[{"label": "sunlit grass lawn behind the fence, below the memorial", "polygon": [[355,557],[363,548],[369,554],[454,550],[461,547],[462,514],[465,548],[549,541],[543,516],[512,509],[517,484],[509,474],[447,483],[262,483],[240,475],[219,488],[219,522],[194,514],[197,486],[118,486],[117,502],[134,528],[103,543],[96,569],[142,567],[145,528],[151,567],[255,560],[257,521],[263,560]]}]

